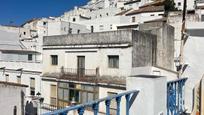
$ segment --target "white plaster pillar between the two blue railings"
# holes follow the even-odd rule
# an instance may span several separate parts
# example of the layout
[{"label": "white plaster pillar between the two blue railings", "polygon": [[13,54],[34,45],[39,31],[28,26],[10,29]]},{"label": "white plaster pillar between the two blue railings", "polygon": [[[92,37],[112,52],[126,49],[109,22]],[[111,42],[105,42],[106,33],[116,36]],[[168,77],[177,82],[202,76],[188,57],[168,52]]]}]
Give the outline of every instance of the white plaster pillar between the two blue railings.
[{"label": "white plaster pillar between the two blue railings", "polygon": [[127,91],[139,90],[130,115],[166,115],[166,77],[133,75],[126,84]]}]

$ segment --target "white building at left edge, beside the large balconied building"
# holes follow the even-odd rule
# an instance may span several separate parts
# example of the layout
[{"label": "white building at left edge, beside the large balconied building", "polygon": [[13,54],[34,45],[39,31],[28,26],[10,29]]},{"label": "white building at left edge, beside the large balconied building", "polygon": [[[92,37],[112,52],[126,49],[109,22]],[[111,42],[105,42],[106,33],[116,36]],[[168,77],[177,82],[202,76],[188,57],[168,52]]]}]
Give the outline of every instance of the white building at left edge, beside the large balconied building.
[{"label": "white building at left edge, beside the large balconied building", "polygon": [[0,31],[0,81],[26,84],[26,96],[40,92],[40,53],[26,49],[18,34]]}]

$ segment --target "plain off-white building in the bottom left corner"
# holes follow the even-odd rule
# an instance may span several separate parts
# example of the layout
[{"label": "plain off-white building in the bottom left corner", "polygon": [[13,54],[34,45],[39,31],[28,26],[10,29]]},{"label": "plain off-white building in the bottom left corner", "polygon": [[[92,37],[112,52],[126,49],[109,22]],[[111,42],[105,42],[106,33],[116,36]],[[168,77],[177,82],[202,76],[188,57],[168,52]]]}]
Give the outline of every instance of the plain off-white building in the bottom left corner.
[{"label": "plain off-white building in the bottom left corner", "polygon": [[0,81],[0,107],[2,115],[24,115],[27,85]]}]

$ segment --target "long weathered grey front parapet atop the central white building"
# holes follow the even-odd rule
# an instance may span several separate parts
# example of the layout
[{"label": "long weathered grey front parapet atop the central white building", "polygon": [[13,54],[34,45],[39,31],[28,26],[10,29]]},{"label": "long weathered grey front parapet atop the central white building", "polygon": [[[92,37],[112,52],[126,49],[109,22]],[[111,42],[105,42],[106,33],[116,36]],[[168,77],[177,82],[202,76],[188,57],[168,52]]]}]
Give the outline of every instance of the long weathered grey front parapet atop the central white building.
[{"label": "long weathered grey front parapet atop the central white building", "polygon": [[63,45],[103,45],[131,43],[132,30],[120,30],[100,33],[46,36],[44,46]]}]

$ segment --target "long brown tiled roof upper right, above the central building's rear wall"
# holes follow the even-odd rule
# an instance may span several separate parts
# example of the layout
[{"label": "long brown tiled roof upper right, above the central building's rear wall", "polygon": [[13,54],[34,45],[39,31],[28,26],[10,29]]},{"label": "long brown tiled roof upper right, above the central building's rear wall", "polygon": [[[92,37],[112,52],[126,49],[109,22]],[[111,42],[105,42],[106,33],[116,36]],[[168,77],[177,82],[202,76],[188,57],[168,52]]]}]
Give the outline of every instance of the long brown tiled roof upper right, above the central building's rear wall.
[{"label": "long brown tiled roof upper right, above the central building's rear wall", "polygon": [[164,6],[147,6],[147,7],[142,7],[137,10],[133,10],[126,15],[134,15],[134,14],[139,14],[139,13],[146,13],[146,12],[160,12],[164,11]]}]

